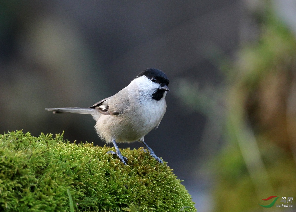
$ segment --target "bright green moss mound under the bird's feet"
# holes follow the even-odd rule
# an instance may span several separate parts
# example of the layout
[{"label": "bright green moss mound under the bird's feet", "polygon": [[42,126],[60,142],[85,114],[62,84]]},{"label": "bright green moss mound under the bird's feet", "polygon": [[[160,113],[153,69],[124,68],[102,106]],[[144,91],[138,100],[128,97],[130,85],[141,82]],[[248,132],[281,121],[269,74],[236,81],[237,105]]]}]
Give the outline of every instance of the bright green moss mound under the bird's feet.
[{"label": "bright green moss mound under the bird's feet", "polygon": [[125,166],[110,150],[59,134],[0,135],[0,211],[73,211],[67,189],[75,211],[196,211],[166,163],[143,149],[123,149]]}]

